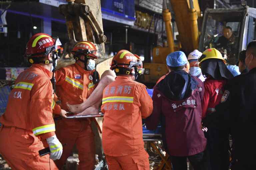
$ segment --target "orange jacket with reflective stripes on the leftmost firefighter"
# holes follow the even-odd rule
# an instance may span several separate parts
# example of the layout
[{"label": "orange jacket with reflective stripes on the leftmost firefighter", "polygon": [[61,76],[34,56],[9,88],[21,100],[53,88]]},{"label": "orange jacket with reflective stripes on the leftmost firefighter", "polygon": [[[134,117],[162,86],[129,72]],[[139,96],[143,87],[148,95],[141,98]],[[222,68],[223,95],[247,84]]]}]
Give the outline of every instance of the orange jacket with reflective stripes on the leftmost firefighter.
[{"label": "orange jacket with reflective stripes on the leftmost firefighter", "polygon": [[33,131],[48,138],[55,134],[52,117],[52,72],[40,64],[33,64],[20,73],[11,91],[5,114],[0,122],[7,127]]}]

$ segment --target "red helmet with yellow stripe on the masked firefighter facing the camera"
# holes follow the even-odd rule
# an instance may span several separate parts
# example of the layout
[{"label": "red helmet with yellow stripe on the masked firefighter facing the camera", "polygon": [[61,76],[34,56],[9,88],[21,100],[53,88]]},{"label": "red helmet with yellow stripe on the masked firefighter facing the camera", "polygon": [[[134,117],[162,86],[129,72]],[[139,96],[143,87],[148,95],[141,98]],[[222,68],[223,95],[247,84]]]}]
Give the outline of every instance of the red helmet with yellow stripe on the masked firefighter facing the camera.
[{"label": "red helmet with yellow stripe on the masked firefighter facing the camera", "polygon": [[100,51],[98,50],[98,47],[94,43],[88,41],[78,42],[77,44],[75,44],[71,53],[74,54],[76,57],[84,54],[91,56],[95,59],[98,59],[100,56]]}]

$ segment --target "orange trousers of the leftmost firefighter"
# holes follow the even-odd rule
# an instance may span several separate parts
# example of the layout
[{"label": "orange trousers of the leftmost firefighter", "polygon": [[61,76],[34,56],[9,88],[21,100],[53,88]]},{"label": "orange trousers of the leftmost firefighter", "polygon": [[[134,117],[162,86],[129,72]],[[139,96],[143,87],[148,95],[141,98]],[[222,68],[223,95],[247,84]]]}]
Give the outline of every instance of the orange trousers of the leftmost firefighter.
[{"label": "orange trousers of the leftmost firefighter", "polygon": [[58,170],[49,154],[40,157],[42,141],[32,131],[1,127],[0,153],[13,170]]}]

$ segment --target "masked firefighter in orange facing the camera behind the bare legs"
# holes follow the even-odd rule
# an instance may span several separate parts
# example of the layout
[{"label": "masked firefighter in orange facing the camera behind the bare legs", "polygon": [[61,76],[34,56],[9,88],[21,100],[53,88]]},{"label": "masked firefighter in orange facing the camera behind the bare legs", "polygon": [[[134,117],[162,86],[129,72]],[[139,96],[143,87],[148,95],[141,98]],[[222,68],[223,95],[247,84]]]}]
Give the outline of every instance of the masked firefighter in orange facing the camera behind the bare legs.
[{"label": "masked firefighter in orange facing the camera behind the bare legs", "polygon": [[[79,42],[74,46],[72,53],[76,63],[60,68],[55,72],[56,92],[64,110],[68,110],[67,102],[74,105],[87,100],[99,80],[99,75],[95,71],[94,59],[97,59],[100,53],[94,43]],[[56,108],[56,110],[59,109]],[[58,168],[65,164],[76,144],[79,169],[94,169],[95,142],[90,120],[62,119],[56,121],[56,135],[60,142],[67,143],[66,146],[63,146],[62,157],[55,161]]]}]

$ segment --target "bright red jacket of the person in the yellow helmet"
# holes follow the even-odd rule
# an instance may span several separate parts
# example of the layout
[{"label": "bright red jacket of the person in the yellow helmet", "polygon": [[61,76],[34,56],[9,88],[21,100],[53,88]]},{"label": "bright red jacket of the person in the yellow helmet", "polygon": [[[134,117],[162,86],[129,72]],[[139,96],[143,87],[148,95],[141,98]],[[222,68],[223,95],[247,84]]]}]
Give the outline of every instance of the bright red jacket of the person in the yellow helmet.
[{"label": "bright red jacket of the person in the yellow helmet", "polygon": [[214,80],[208,77],[204,82],[204,98],[202,101],[202,119],[208,113],[215,112],[215,106],[220,103],[227,80]]}]

